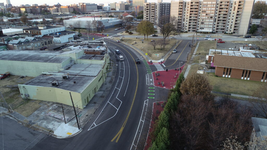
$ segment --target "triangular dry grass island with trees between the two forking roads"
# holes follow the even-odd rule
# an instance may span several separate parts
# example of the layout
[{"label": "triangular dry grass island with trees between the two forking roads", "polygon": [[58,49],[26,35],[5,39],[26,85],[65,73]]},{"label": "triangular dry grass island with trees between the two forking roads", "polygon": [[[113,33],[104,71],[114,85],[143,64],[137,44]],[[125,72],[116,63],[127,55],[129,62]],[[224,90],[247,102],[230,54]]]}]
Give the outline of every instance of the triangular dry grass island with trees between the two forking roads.
[{"label": "triangular dry grass island with trees between the two forking roads", "polygon": [[[148,53],[148,57],[152,60],[159,60],[162,58],[162,56],[164,56],[171,48],[172,46],[176,45],[176,39],[171,39],[170,41],[166,40],[166,42],[168,42],[168,44],[165,46],[165,49],[160,50],[160,46],[156,46],[155,50],[154,47],[152,45],[150,45],[150,38],[148,38],[148,40],[143,40],[142,43],[142,39],[143,38],[123,38],[123,42],[127,43],[128,45],[133,45],[136,48],[140,49],[141,51],[143,51],[144,53]],[[114,40],[119,40],[118,38],[114,38]],[[155,40],[156,43],[159,43],[160,40],[162,39],[153,39]],[[134,44],[134,42],[136,42],[136,44]],[[154,43],[154,42],[153,42]],[[179,41],[178,41],[179,43]],[[155,54],[159,54],[159,57],[157,57]]]}]

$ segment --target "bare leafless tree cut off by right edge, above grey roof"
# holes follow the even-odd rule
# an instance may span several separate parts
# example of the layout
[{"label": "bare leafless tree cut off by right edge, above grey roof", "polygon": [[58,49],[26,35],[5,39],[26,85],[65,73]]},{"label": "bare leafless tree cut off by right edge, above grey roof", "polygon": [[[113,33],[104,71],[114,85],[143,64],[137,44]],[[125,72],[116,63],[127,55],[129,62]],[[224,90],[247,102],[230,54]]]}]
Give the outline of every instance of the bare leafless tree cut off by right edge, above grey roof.
[{"label": "bare leafless tree cut off by right edge, above grey roof", "polygon": [[257,114],[267,119],[267,83],[262,84],[250,98],[250,104]]}]

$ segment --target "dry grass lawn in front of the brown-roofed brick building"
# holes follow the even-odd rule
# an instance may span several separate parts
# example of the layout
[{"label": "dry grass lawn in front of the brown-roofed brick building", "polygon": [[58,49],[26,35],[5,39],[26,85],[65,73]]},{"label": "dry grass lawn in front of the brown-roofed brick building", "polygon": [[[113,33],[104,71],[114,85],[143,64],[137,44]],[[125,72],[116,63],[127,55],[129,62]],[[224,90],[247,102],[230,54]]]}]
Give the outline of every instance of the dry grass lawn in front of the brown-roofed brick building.
[{"label": "dry grass lawn in front of the brown-roofed brick building", "polygon": [[[200,69],[203,69],[203,67],[200,66]],[[198,64],[191,65],[189,74],[196,73],[197,70]],[[252,96],[255,89],[264,84],[258,81],[216,77],[215,73],[206,73],[206,76],[209,78],[210,84],[213,86],[212,90],[217,92]]]}]

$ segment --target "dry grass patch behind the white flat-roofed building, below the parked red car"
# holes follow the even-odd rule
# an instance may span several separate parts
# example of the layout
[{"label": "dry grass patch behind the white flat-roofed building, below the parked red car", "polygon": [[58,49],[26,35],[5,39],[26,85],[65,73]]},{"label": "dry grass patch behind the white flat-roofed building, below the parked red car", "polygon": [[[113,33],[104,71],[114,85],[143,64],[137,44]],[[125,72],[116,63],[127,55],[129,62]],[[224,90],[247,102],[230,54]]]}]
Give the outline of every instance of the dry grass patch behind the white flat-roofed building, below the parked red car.
[{"label": "dry grass patch behind the white flat-roofed building, below the parked red car", "polygon": [[200,41],[196,55],[206,56],[209,54],[210,49],[215,49],[215,43],[216,41]]}]

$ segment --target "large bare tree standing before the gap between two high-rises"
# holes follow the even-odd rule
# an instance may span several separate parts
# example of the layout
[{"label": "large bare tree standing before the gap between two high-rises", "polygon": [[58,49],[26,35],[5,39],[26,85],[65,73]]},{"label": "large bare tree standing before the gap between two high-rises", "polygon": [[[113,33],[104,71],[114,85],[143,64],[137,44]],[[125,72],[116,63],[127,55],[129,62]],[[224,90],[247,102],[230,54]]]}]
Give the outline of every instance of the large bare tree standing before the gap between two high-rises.
[{"label": "large bare tree standing before the gap between two high-rises", "polygon": [[174,16],[163,15],[159,20],[159,30],[163,34],[163,41],[165,42],[166,38],[170,35],[180,34],[178,29],[178,20]]}]

